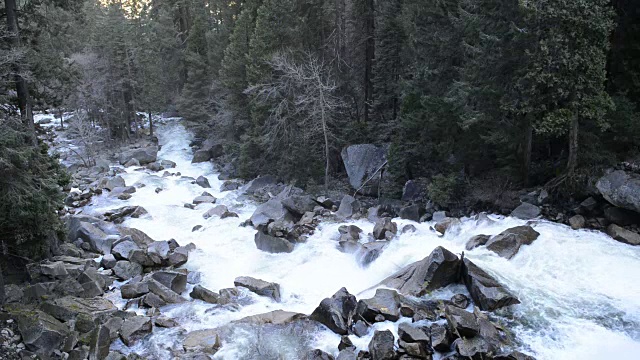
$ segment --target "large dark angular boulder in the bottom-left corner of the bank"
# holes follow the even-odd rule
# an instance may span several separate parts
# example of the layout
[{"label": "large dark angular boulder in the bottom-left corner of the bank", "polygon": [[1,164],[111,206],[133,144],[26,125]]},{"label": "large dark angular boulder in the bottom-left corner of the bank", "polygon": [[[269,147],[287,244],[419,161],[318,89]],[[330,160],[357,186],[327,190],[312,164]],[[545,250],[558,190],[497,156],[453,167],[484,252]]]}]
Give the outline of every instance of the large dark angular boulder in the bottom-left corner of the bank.
[{"label": "large dark angular boulder in the bottom-left corner of the bank", "polygon": [[44,358],[61,349],[69,336],[69,328],[45,312],[23,306],[12,306],[6,310],[16,319],[27,349]]}]

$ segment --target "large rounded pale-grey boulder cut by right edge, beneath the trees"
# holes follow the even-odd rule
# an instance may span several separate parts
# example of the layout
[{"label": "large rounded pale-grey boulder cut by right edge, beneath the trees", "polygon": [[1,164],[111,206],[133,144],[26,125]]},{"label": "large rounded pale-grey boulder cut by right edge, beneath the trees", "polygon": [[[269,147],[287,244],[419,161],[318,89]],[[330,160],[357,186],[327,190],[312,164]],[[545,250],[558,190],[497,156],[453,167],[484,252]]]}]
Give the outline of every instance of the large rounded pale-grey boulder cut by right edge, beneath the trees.
[{"label": "large rounded pale-grey boulder cut by right edge, beneath the trees", "polygon": [[640,175],[617,170],[600,178],[596,187],[613,205],[640,212]]}]

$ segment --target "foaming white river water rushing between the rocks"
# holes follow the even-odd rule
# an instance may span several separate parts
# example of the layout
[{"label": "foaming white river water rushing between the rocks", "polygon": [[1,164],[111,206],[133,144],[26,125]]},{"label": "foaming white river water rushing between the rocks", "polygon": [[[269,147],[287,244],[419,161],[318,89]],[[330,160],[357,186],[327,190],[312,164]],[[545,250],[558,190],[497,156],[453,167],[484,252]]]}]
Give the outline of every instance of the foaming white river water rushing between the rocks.
[{"label": "foaming white river water rushing between the rocks", "polygon": [[[140,205],[149,216],[128,219],[124,225],[143,230],[156,240],[176,239],[184,245],[193,242],[197,250],[190,254],[186,268],[202,273],[202,285],[211,290],[233,287],[238,276],[252,276],[281,285],[282,301],[245,294],[246,304],[239,309],[214,308],[200,301],[167,306],[163,313],[174,317],[188,330],[216,328],[245,316],[276,309],[309,314],[320,301],[346,287],[360,298],[370,297],[373,286],[403,266],[428,256],[436,246],[461,253],[467,239],[476,234],[497,234],[523,221],[492,216],[494,221],[477,223],[463,220],[455,233],[439,237],[430,223],[413,225],[415,233],[400,235],[384,253],[368,267],[361,267],[353,255],[336,249],[338,223],[322,223],[307,243],[299,244],[290,254],[268,254],[256,249],[255,230],[239,227],[251,216],[255,204],[241,191],[223,192],[222,181],[210,163],[191,164],[190,134],[175,119],[166,119],[157,129],[162,149],[160,159],[177,163],[172,173],[197,177],[204,175],[211,183],[207,189],[218,204],[227,205],[239,218],[208,220],[202,214],[212,205],[199,205],[195,210],[184,203],[200,195],[203,189],[180,176],[161,177],[137,168],[122,174],[127,185],[144,183],[128,201],[94,197],[87,213],[102,213],[125,206]],[[156,188],[163,191],[156,193]],[[412,223],[395,219],[399,228]],[[373,224],[366,220],[350,222],[371,232]],[[196,225],[203,229],[192,232]],[[511,260],[478,248],[465,256],[508,286],[522,301],[500,312],[502,320],[514,331],[519,350],[538,359],[638,359],[640,358],[640,247],[632,247],[600,232],[573,231],[567,226],[549,222],[535,225],[541,233],[532,245],[523,247]],[[445,289],[434,296],[450,297],[463,287]],[[186,296],[186,295],[185,295]],[[121,304],[122,305],[122,304]],[[404,319],[401,321],[407,321]],[[390,322],[376,324],[377,329],[397,331]],[[132,351],[155,358],[168,358],[164,350],[179,344],[176,329],[155,329],[150,339]],[[262,336],[267,336],[262,338]],[[297,359],[301,334],[257,334],[255,329],[238,327],[233,340],[223,343],[216,359],[256,358],[250,349],[256,343],[275,347],[278,358]],[[351,337],[365,349],[370,337]],[[262,340],[261,340],[262,339]],[[328,330],[311,334],[308,344],[337,355],[339,337]],[[118,347],[118,345],[116,345]],[[267,357],[263,357],[267,358]]]}]

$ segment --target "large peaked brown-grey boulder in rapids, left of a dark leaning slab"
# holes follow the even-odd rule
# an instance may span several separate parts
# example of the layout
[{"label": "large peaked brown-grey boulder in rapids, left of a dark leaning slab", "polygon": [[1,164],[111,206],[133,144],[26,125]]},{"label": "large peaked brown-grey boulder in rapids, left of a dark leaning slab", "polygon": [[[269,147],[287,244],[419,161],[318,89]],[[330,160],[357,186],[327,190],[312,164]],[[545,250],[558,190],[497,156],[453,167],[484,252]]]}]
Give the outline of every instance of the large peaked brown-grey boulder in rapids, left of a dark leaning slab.
[{"label": "large peaked brown-grey boulder in rapids, left of a dark leaning slab", "polygon": [[426,257],[382,281],[382,284],[398,289],[400,293],[422,296],[430,291],[458,282],[460,259],[439,246]]}]

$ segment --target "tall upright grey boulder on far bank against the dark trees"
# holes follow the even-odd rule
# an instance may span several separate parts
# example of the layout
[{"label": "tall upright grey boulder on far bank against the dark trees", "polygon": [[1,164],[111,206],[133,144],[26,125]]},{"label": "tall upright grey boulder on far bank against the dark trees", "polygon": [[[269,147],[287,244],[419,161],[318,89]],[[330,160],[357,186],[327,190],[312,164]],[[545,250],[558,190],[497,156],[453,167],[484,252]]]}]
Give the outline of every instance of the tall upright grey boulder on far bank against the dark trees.
[{"label": "tall upright grey boulder on far bank against the dark trees", "polygon": [[378,193],[378,174],[387,162],[386,147],[372,144],[351,145],[342,150],[342,161],[349,176],[349,184],[354,189],[366,195]]}]

